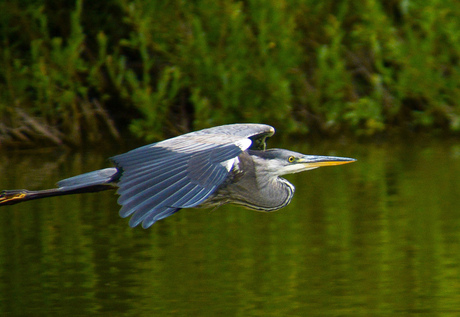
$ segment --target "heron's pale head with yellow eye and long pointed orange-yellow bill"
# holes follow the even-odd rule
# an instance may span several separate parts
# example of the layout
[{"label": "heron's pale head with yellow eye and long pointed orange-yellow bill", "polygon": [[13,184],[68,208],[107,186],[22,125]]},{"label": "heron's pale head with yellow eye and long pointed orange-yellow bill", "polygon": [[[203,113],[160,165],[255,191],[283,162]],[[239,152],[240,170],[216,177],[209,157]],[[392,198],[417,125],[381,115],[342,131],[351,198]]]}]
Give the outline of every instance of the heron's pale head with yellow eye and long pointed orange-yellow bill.
[{"label": "heron's pale head with yellow eye and long pointed orange-yellow bill", "polygon": [[305,155],[284,149],[257,151],[257,168],[277,176],[308,171],[321,166],[347,164],[356,161],[349,157]]}]

